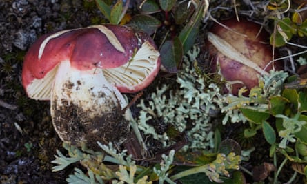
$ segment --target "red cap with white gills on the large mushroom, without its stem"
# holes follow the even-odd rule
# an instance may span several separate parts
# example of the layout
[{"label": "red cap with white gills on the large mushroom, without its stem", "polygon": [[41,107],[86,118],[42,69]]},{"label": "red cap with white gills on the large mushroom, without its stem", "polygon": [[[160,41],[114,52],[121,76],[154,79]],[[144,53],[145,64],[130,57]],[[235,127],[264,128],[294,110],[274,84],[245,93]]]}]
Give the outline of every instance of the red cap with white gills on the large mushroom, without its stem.
[{"label": "red cap with white gills on the large mushroom, without its stem", "polygon": [[22,72],[28,96],[50,100],[61,61],[70,61],[71,67],[79,70],[103,70],[120,92],[146,88],[160,67],[157,47],[145,32],[122,25],[63,30],[43,35],[28,50]]}]

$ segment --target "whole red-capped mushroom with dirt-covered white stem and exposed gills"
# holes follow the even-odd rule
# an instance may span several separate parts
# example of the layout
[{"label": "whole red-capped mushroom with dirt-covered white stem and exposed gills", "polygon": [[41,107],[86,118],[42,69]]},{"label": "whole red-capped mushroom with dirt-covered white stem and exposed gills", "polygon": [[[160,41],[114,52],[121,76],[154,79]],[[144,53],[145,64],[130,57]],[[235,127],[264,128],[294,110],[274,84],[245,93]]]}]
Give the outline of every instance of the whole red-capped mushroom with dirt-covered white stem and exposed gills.
[{"label": "whole red-capped mushroom with dirt-covered white stem and exposed gills", "polygon": [[51,101],[59,137],[80,145],[122,143],[130,130],[121,92],[143,90],[160,68],[144,32],[95,25],[43,35],[28,50],[22,82],[28,96]]}]

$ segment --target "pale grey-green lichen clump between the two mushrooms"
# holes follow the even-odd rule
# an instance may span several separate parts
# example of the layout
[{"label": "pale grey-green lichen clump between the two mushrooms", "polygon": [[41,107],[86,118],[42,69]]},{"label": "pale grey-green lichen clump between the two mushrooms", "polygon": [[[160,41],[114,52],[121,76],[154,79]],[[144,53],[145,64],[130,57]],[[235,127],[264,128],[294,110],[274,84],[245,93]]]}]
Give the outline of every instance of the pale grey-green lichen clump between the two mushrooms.
[{"label": "pale grey-green lichen clump between the two mushrooms", "polygon": [[139,129],[159,140],[164,147],[175,143],[167,132],[157,132],[150,124],[154,119],[171,125],[188,137],[187,148],[208,149],[214,146],[210,114],[221,106],[221,94],[215,84],[205,85],[204,76],[197,74],[193,62],[199,54],[198,48],[190,50],[184,57],[183,67],[177,73],[179,88],[163,84],[150,94],[150,100],[141,99],[137,118]]}]

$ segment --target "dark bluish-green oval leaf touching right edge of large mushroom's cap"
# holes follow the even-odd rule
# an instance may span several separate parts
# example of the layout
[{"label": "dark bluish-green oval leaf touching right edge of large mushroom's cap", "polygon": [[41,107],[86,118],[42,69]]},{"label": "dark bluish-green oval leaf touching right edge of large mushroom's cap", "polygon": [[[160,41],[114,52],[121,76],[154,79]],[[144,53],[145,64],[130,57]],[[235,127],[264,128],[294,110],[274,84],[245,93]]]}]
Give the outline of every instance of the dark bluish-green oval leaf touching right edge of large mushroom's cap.
[{"label": "dark bluish-green oval leaf touching right edge of large mushroom's cap", "polygon": [[160,50],[161,63],[170,73],[177,72],[177,67],[181,63],[183,57],[183,49],[181,41],[175,37],[172,41],[166,41]]}]

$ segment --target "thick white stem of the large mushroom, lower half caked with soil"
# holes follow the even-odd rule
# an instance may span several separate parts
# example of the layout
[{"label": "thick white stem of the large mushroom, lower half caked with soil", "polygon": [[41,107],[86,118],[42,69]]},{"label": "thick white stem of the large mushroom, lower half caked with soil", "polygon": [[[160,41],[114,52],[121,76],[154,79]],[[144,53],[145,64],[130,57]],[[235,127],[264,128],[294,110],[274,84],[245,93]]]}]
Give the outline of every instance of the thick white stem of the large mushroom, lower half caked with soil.
[{"label": "thick white stem of the large mushroom, lower half caked with soil", "polygon": [[51,115],[63,141],[74,145],[122,142],[121,135],[114,132],[129,132],[128,115],[121,111],[126,105],[122,94],[106,81],[103,70],[80,71],[69,61],[59,64],[52,85]]}]

